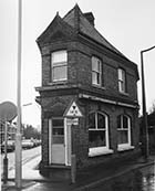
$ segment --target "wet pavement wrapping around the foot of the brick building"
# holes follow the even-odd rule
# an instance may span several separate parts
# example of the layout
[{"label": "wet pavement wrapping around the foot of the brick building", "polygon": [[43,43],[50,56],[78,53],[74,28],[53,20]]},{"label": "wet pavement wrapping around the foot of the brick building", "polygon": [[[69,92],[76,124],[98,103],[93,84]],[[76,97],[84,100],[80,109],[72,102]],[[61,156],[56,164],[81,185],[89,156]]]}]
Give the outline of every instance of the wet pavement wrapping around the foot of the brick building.
[{"label": "wet pavement wrapping around the foot of the brick building", "polygon": [[[143,158],[126,161],[124,163],[113,163],[105,167],[85,168],[76,174],[75,183],[71,180],[50,179],[41,176],[38,170],[40,157],[32,159],[22,167],[22,187],[18,189],[14,183],[14,169],[9,171],[7,183],[2,182],[2,191],[85,191],[93,190],[96,185],[104,184],[113,179],[124,176],[135,169],[155,165],[155,156],[149,156],[147,161]],[[32,168],[33,167],[33,168]],[[103,170],[104,169],[104,170]]]}]

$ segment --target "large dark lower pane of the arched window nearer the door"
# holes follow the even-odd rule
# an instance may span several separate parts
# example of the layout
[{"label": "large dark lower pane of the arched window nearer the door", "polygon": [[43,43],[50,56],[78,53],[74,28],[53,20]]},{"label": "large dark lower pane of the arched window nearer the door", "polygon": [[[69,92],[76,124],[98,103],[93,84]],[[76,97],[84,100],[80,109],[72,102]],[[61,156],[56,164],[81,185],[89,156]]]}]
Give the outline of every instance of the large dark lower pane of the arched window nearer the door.
[{"label": "large dark lower pane of the arched window nearer the door", "polygon": [[89,131],[89,147],[104,147],[105,144],[105,130],[90,130]]}]

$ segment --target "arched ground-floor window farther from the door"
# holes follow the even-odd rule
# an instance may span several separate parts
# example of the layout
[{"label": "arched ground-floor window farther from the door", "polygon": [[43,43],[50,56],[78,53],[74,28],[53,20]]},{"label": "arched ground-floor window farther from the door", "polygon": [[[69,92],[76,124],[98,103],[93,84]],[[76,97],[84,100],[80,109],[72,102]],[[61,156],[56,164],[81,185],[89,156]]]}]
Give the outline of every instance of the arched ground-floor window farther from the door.
[{"label": "arched ground-floor window farther from the door", "polygon": [[117,144],[118,149],[131,146],[131,117],[126,115],[117,117]]}]

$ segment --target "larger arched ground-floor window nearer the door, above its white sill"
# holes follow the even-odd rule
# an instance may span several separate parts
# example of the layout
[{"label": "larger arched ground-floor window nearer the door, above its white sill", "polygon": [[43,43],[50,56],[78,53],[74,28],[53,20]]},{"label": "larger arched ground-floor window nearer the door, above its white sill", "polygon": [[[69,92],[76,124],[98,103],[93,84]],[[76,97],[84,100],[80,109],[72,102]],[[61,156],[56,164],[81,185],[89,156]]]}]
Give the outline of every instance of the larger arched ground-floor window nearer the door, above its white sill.
[{"label": "larger arched ground-floor window nearer the door, above its white sill", "polygon": [[95,112],[89,115],[89,148],[108,148],[107,116]]}]

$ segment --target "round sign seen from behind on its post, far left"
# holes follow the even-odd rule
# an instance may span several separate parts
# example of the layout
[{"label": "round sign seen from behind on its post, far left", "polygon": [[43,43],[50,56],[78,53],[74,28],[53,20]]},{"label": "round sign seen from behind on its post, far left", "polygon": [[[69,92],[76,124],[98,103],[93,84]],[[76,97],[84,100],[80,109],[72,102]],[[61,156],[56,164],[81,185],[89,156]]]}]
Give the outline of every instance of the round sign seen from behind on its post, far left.
[{"label": "round sign seen from behind on its post, far left", "polygon": [[3,182],[8,180],[8,121],[13,120],[17,116],[17,106],[11,102],[0,104],[0,120],[4,124],[4,158],[3,158]]}]

